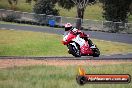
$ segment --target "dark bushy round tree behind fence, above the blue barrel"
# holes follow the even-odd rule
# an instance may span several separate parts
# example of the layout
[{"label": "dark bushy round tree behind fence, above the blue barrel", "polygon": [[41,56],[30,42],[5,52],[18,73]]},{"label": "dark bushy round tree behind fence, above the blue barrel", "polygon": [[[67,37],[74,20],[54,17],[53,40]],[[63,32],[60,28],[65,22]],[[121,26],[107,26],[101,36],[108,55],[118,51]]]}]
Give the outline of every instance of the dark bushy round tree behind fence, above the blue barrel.
[{"label": "dark bushy round tree behind fence, above the blue barrel", "polygon": [[34,6],[34,12],[37,14],[46,14],[46,15],[59,15],[57,9],[55,9],[55,3],[53,0],[37,0]]}]

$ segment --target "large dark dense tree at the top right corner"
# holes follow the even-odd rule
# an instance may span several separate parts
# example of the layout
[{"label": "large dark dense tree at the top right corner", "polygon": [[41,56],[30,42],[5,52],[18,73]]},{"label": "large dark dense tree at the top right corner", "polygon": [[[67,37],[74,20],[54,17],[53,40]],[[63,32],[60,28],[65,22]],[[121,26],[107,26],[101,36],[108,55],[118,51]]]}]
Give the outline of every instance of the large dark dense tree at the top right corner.
[{"label": "large dark dense tree at the top right corner", "polygon": [[103,17],[108,21],[127,22],[132,0],[101,0],[103,3]]}]

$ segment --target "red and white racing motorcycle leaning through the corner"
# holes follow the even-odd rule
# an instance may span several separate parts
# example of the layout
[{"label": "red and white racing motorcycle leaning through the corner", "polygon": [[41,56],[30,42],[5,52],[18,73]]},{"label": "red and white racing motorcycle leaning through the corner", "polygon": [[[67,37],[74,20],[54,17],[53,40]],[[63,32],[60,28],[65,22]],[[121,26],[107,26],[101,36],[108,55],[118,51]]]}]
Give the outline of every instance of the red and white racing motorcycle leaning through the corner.
[{"label": "red and white racing motorcycle leaning through the corner", "polygon": [[74,34],[72,31],[67,31],[63,35],[64,45],[68,47],[68,53],[75,57],[93,56],[99,57],[100,51],[94,44],[94,48],[90,48],[88,41],[85,41],[80,35]]}]

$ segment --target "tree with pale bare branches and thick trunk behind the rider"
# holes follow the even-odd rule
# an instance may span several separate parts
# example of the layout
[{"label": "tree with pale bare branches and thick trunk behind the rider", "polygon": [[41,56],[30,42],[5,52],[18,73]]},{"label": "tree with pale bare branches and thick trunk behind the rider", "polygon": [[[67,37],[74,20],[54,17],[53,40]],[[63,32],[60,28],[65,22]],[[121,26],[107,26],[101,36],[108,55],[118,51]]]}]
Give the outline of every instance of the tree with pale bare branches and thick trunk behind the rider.
[{"label": "tree with pale bare branches and thick trunk behind the rider", "polygon": [[[29,3],[31,3],[31,1],[33,1],[33,0],[26,0],[26,2],[29,2]],[[41,0],[42,2],[40,0],[34,0],[34,1],[37,1],[37,3],[40,2],[42,4],[42,3],[45,3],[47,0]],[[76,17],[81,18],[81,19],[83,19],[83,17],[84,17],[84,12],[85,12],[86,6],[90,3],[94,3],[95,1],[96,0],[49,0],[49,2],[52,3],[52,5],[58,3],[59,6],[61,6],[64,9],[68,9],[68,10],[70,10],[72,7],[76,6],[77,7]],[[38,8],[40,8],[40,7],[38,7]]]}]

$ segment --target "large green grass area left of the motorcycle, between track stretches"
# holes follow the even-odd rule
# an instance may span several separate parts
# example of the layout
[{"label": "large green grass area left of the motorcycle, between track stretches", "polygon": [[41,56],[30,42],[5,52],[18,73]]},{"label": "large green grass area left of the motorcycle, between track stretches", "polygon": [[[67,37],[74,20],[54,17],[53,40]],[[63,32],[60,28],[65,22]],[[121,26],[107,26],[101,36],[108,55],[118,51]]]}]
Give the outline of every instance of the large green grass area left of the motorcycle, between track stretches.
[{"label": "large green grass area left of the motorcycle, between track stretches", "polygon": [[60,40],[55,34],[0,30],[0,55],[65,55],[66,47]]}]

